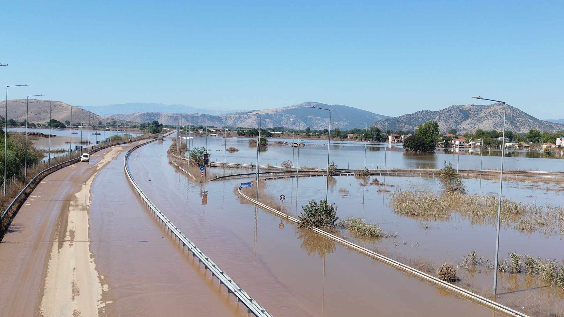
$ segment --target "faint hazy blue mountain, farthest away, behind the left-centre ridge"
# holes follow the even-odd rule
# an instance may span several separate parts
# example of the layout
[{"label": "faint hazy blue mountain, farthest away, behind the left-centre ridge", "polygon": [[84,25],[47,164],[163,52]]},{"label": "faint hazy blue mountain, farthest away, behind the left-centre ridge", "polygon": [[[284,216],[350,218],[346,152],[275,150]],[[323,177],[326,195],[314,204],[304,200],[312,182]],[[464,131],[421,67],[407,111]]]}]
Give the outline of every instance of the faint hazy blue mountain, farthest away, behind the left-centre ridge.
[{"label": "faint hazy blue mountain, farthest away, behind the left-centre ridge", "polygon": [[206,115],[222,115],[223,113],[233,113],[241,110],[209,110],[191,107],[190,105],[183,104],[164,104],[164,103],[121,103],[98,105],[92,108],[92,111],[97,112],[100,116],[112,116],[119,113],[133,113],[133,112],[152,112],[158,110],[159,112],[168,113],[205,113]]}]

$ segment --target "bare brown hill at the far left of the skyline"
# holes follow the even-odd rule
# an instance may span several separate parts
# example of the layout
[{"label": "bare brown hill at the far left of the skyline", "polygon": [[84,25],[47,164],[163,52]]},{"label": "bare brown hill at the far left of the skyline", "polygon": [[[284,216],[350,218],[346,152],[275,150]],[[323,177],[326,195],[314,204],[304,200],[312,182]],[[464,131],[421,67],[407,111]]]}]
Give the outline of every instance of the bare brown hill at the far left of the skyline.
[{"label": "bare brown hill at the far left of the skyline", "polygon": [[[26,99],[8,100],[8,120],[14,119],[22,121],[25,119]],[[0,103],[0,115],[5,116],[6,103]],[[70,121],[70,105],[64,102],[54,102],[51,104],[51,118],[60,122]],[[29,122],[45,123],[49,122],[49,100],[29,99]],[[95,113],[84,109],[72,108],[72,122],[83,121],[86,124],[98,124],[98,121],[108,122],[108,118],[98,116]]]}]

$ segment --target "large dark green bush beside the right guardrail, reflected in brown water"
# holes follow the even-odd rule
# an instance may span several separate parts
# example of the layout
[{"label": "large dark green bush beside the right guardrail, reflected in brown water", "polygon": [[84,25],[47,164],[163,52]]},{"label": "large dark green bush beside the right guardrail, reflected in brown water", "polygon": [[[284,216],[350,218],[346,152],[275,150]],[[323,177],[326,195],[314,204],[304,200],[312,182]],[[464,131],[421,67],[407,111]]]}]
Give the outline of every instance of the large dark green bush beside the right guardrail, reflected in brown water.
[{"label": "large dark green bush beside the right guardrail, reflected in brown water", "polygon": [[319,204],[316,200],[310,200],[305,206],[302,206],[303,212],[299,215],[300,228],[331,228],[335,226],[335,222],[339,219],[336,217],[337,207],[335,204],[327,204],[327,200],[320,200]]}]

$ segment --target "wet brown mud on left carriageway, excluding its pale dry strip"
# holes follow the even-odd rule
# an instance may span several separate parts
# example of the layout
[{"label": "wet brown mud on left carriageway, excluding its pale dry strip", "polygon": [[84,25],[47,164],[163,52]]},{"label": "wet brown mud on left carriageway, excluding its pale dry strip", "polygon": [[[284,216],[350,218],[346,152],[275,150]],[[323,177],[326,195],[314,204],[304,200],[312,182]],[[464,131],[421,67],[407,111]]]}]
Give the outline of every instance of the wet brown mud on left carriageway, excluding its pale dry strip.
[{"label": "wet brown mud on left carriageway, excluding its pale dry strip", "polygon": [[[100,299],[106,303],[102,315],[246,316],[246,309],[187,256],[133,194],[123,168],[130,147],[124,147],[89,186],[90,250],[100,283],[107,285]],[[0,316],[41,315],[51,245],[60,249],[86,242],[72,241],[73,235],[68,241],[53,237],[64,236],[70,199],[94,172],[89,167],[113,148],[91,155],[90,164],[48,175],[25,201],[0,243]],[[73,298],[58,300],[65,305],[74,296],[80,296],[79,290],[73,289]]]}]

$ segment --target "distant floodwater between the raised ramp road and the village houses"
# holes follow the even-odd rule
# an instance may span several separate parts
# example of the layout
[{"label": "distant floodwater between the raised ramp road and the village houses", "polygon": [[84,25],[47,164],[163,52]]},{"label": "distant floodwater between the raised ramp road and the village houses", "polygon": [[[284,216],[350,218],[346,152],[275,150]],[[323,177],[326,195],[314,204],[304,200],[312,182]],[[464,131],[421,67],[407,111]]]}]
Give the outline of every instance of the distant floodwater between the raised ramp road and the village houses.
[{"label": "distant floodwater between the raised ramp road and the village houses", "polygon": [[[194,137],[190,146],[205,146],[205,137]],[[227,140],[227,143],[224,143]],[[301,140],[306,146],[298,149],[279,146],[277,141],[294,142],[293,139],[270,138],[268,147],[261,151],[260,165],[280,166],[283,161],[293,161],[293,166],[324,168],[327,166],[327,140]],[[185,141],[186,142],[186,141]],[[257,148],[249,147],[249,138],[208,137],[207,147],[211,161],[230,163],[257,164]],[[325,146],[323,146],[325,144]],[[224,153],[224,148],[235,147],[238,152]],[[357,141],[331,141],[329,161],[334,161],[337,168],[362,169],[364,167],[364,143]],[[366,166],[370,169],[441,169],[444,162],[460,169],[499,170],[501,151],[479,149],[437,149],[436,153],[406,153],[401,144],[368,143]],[[542,170],[563,171],[564,160],[561,156],[543,156],[535,151],[505,151],[504,170]],[[539,158],[537,158],[539,157]],[[483,160],[482,160],[483,158]]]}]

